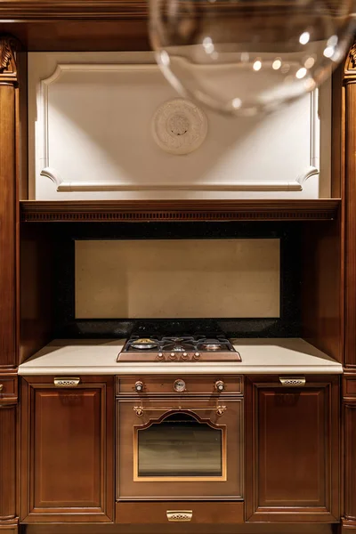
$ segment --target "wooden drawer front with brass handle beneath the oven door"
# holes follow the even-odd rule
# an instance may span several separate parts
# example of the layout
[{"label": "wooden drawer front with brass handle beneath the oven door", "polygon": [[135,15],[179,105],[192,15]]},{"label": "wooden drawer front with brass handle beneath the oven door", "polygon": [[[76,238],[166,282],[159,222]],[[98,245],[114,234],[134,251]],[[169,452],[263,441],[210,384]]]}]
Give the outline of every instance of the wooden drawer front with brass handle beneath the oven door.
[{"label": "wooden drawer front with brass handle beneath the oven door", "polygon": [[[171,521],[168,520],[168,515]],[[244,503],[208,501],[202,503],[192,501],[117,503],[115,516],[117,523],[131,524],[242,523],[244,522]]]}]

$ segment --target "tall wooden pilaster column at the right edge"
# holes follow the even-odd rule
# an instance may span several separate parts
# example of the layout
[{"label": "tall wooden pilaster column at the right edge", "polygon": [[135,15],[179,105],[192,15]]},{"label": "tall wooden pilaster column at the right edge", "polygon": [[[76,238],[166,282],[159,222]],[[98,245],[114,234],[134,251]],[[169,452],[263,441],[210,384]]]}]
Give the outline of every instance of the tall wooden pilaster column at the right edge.
[{"label": "tall wooden pilaster column at the right edge", "polygon": [[344,71],[344,379],[342,531],[356,532],[356,46]]}]

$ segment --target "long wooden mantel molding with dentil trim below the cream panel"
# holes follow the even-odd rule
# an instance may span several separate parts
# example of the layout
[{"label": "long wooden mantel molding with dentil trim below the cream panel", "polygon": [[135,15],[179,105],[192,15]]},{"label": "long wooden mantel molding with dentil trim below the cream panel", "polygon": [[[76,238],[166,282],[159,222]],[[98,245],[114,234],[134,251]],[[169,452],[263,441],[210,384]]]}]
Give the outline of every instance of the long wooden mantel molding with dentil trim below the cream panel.
[{"label": "long wooden mantel molding with dentil trim below the cream panel", "polygon": [[21,202],[23,222],[320,221],[335,219],[340,200],[135,200]]}]

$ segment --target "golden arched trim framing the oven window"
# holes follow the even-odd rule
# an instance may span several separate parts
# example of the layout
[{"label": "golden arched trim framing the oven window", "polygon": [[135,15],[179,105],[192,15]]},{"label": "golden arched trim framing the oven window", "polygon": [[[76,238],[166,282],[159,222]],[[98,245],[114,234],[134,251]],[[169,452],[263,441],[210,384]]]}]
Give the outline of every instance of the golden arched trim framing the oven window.
[{"label": "golden arched trim framing the oven window", "polygon": [[[139,476],[139,461],[138,461],[138,437],[139,432],[150,428],[152,425],[159,425],[166,417],[173,415],[174,413],[187,414],[194,417],[201,425],[208,425],[214,430],[219,430],[222,433],[222,475],[221,476]],[[152,482],[152,481],[175,481],[175,482],[201,482],[212,481],[221,482],[227,481],[227,425],[215,425],[210,419],[198,417],[198,415],[191,409],[174,408],[165,411],[165,413],[156,420],[150,419],[148,423],[144,425],[134,425],[134,481],[135,482]]]}]

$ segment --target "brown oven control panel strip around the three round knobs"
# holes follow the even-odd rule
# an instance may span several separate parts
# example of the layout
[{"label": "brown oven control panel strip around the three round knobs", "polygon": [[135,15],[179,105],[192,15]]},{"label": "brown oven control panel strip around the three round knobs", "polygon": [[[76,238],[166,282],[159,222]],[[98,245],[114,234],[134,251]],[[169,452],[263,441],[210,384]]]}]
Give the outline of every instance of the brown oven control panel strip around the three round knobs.
[{"label": "brown oven control panel strip around the three round knobs", "polygon": [[[243,393],[243,377],[235,375],[172,375],[164,378],[158,376],[125,376],[124,378],[117,376],[117,395],[135,395],[137,397],[146,394],[167,394],[172,393],[177,395],[174,391],[174,381],[182,378],[186,384],[186,394],[201,393],[210,395],[217,393],[215,383],[219,380],[223,381],[225,388],[223,394],[242,394]],[[137,393],[134,389],[134,384],[138,381],[143,383],[143,392]]]}]

